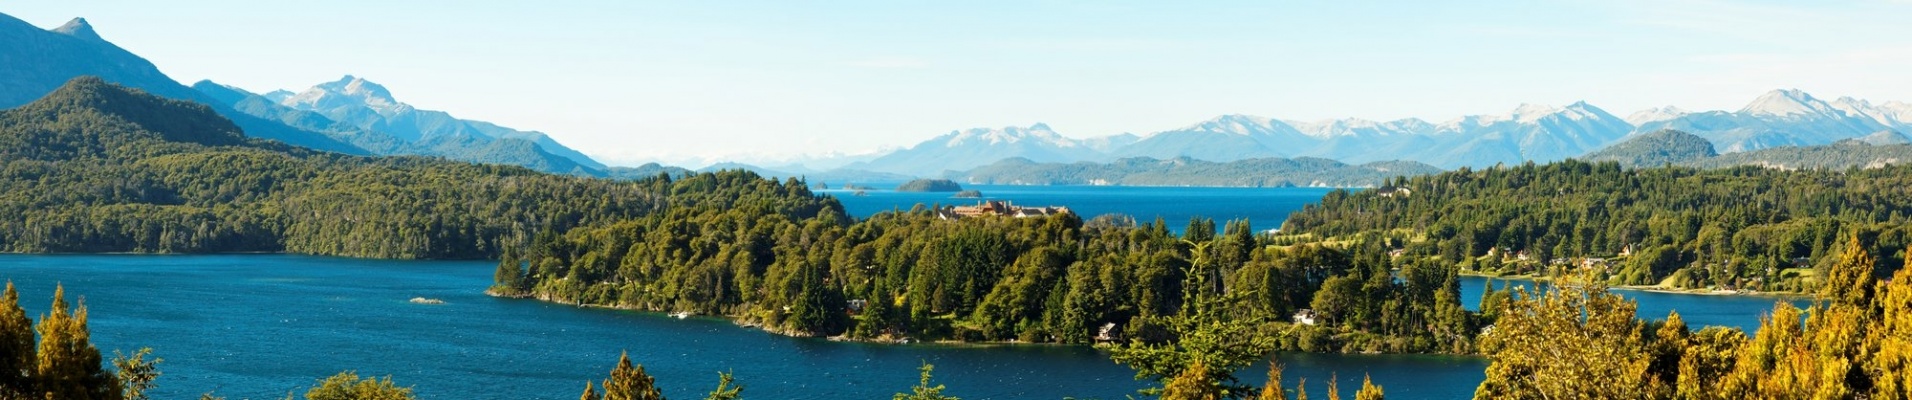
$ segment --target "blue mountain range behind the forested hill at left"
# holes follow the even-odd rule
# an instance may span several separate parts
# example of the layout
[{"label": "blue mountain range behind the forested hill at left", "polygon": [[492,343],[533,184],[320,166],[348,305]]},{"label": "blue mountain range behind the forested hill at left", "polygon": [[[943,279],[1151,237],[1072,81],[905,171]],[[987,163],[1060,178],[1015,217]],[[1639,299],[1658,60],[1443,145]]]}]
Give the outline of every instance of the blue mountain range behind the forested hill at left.
[{"label": "blue mountain range behind the forested hill at left", "polygon": [[107,42],[86,19],[38,29],[0,13],[0,109],[19,107],[75,77],[206,103],[247,136],[348,155],[434,155],[520,165],[545,172],[612,176],[612,168],[543,132],[402,103],[375,82],[346,77],[304,92],[252,94],[203,80],[180,84],[151,61]]}]

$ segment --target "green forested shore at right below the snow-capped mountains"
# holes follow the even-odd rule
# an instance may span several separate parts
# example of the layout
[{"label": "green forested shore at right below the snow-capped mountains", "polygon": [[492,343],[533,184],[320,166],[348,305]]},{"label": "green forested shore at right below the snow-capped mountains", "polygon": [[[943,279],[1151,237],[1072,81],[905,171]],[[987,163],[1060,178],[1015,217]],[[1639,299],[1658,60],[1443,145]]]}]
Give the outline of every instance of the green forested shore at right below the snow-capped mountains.
[{"label": "green forested shore at right below the snow-capped mountains", "polygon": [[[1331,191],[1283,233],[1379,233],[1405,256],[1489,274],[1575,264],[1619,285],[1797,291],[1843,237],[1899,255],[1912,241],[1908,211],[1912,167],[1627,170],[1562,161]],[[1879,264],[1889,272],[1902,260]]]}]

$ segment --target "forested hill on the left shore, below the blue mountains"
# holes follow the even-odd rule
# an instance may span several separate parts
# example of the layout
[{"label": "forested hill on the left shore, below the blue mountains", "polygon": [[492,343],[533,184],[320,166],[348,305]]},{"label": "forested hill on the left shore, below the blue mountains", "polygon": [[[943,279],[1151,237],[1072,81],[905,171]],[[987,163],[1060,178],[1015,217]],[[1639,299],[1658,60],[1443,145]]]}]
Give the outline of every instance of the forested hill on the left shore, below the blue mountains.
[{"label": "forested hill on the left shore, below the blue mountains", "polygon": [[205,105],[90,77],[0,111],[11,253],[495,258],[539,230],[642,216],[679,191],[694,188],[249,140]]}]

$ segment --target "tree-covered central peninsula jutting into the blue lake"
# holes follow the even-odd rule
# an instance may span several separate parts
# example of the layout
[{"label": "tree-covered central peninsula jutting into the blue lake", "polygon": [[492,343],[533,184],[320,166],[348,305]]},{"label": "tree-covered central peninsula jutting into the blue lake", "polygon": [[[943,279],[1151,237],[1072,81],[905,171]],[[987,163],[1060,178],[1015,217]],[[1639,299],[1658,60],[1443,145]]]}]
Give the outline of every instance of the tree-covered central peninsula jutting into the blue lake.
[{"label": "tree-covered central peninsula jutting into the blue lake", "polygon": [[[1461,308],[1457,270],[1394,264],[1379,241],[1277,247],[1212,220],[1174,235],[1161,220],[1067,212],[943,220],[918,207],[851,222],[769,209],[744,197],[539,235],[505,256],[493,293],[878,341],[1174,343],[1170,322],[1195,297],[1224,299],[1270,348],[1468,352],[1484,323]],[[1319,323],[1291,323],[1304,308]]]}]

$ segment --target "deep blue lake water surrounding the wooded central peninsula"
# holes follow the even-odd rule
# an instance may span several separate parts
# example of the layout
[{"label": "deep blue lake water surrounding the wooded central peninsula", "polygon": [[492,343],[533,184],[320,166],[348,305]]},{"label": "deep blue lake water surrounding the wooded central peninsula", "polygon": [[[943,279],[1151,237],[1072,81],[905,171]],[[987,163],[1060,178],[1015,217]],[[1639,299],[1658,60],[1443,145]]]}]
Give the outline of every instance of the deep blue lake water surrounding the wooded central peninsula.
[{"label": "deep blue lake water surrounding the wooded central peninsula", "polygon": [[[1189,216],[1249,218],[1256,230],[1325,189],[1214,188],[1025,188],[981,186],[1021,205],[1067,205],[1082,214],[1162,216],[1180,230]],[[946,193],[870,191],[845,197],[858,216],[950,201]],[[748,398],[889,398],[935,364],[937,383],[962,398],[1124,398],[1143,387],[1084,346],[891,346],[792,339],[725,320],[576,308],[491,299],[491,262],[358,260],[291,255],[126,256],[0,255],[0,278],[21,287],[40,316],[55,283],[84,295],[94,343],[111,350],[155,348],[164,358],[159,398],[216,390],[228,398],[281,398],[342,369],[392,375],[421,398],[576,398],[629,350],[669,398],[702,398],[717,371],[732,371]],[[1484,279],[1463,281],[1478,306]],[[1753,325],[1772,306],[1763,297],[1698,297],[1621,291],[1640,314],[1681,310],[1692,325]],[[413,304],[409,299],[445,304]],[[1480,358],[1277,354],[1289,385],[1306,377],[1314,396],[1336,375],[1344,394],[1363,375],[1388,398],[1467,398],[1482,379]],[[1266,367],[1241,375],[1260,383]]]}]

